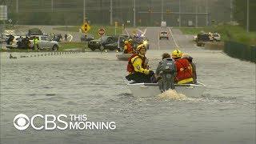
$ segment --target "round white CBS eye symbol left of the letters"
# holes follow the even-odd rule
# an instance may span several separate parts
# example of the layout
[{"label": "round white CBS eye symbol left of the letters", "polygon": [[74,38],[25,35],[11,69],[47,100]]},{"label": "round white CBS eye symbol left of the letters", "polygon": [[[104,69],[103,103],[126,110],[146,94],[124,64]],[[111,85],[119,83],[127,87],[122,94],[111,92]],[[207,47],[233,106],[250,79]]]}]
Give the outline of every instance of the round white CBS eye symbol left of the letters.
[{"label": "round white CBS eye symbol left of the letters", "polygon": [[26,114],[18,114],[14,117],[14,126],[18,130],[26,130],[30,126],[30,118]]}]

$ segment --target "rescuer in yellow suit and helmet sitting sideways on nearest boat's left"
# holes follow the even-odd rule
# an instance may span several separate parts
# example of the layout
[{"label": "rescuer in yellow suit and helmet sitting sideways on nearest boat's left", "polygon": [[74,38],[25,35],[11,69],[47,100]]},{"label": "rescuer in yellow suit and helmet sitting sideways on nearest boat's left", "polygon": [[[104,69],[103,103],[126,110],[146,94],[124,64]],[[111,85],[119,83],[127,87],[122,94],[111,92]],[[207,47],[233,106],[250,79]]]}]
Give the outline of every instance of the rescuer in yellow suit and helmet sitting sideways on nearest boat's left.
[{"label": "rescuer in yellow suit and helmet sitting sideways on nearest boat's left", "polygon": [[128,81],[133,80],[135,83],[151,83],[150,78],[154,75],[154,71],[149,70],[148,60],[146,59],[146,46],[141,44],[136,49],[138,53],[133,54],[127,65],[129,75],[126,76]]}]

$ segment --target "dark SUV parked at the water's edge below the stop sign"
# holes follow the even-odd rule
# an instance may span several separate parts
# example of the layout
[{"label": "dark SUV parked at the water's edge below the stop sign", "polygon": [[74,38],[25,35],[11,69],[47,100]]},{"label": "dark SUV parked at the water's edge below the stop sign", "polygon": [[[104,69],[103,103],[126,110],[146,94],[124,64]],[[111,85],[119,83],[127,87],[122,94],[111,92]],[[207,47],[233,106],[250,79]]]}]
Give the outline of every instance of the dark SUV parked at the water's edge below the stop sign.
[{"label": "dark SUV parked at the water's edge below the stop sign", "polygon": [[118,37],[116,36],[102,36],[88,42],[90,50],[115,50],[118,48]]}]

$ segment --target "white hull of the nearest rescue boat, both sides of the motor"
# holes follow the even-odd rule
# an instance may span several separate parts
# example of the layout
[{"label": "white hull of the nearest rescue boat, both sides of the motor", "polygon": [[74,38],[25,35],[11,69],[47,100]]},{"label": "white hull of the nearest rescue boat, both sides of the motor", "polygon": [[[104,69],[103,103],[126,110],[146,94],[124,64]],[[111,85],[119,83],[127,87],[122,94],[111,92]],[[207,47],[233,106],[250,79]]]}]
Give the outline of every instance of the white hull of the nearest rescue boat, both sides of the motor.
[{"label": "white hull of the nearest rescue boat, both sides of the motor", "polygon": [[[154,97],[161,94],[157,83],[128,83],[130,91],[136,98]],[[202,96],[206,90],[206,85],[198,82],[197,84],[175,84],[175,90],[186,97],[197,98]]]}]

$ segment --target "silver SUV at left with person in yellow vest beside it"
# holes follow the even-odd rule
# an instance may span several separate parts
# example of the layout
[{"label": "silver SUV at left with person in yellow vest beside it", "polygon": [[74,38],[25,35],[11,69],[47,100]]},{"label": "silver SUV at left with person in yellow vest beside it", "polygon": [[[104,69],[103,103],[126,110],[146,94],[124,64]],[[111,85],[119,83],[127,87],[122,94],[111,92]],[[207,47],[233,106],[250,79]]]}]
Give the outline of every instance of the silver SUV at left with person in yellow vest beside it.
[{"label": "silver SUV at left with person in yellow vest beside it", "polygon": [[59,48],[59,44],[56,41],[53,41],[47,36],[44,35],[34,35],[30,37],[30,47],[34,46],[33,39],[34,37],[38,38],[38,46],[40,50],[54,50],[57,51]]}]

